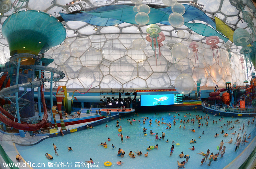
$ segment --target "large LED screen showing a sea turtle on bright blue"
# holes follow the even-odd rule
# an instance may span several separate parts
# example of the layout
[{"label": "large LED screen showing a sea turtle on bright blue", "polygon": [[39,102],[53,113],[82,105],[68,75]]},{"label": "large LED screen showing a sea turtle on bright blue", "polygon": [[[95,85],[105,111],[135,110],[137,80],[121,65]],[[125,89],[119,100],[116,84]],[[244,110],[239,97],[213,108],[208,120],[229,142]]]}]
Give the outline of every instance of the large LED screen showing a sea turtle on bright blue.
[{"label": "large LED screen showing a sea turtle on bright blue", "polygon": [[140,100],[140,106],[160,106],[183,103],[181,94],[141,95]]}]

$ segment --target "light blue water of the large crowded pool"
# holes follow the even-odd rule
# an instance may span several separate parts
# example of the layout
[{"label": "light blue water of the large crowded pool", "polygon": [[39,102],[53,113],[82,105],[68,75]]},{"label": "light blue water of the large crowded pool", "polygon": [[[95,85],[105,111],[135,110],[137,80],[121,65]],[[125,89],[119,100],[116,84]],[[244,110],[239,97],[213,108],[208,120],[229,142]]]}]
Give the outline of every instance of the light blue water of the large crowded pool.
[{"label": "light blue water of the large crowded pool", "polygon": [[[120,137],[118,137],[118,128],[116,128],[116,120],[113,120],[111,122],[108,122],[108,126],[106,128],[106,123],[94,126],[93,129],[89,130],[83,130],[79,132],[74,132],[72,134],[65,135],[63,137],[54,137],[54,138],[48,138],[44,141],[42,141],[39,144],[36,144],[34,146],[20,146],[16,145],[20,155],[26,160],[31,161],[32,163],[45,163],[45,168],[52,168],[48,166],[48,160],[45,158],[46,152],[50,153],[53,156],[53,160],[51,162],[71,162],[72,167],[71,168],[79,168],[77,167],[77,162],[84,162],[85,160],[88,161],[90,158],[94,162],[99,162],[99,168],[106,168],[104,166],[105,161],[112,162],[111,168],[120,168],[121,166],[116,165],[116,162],[119,160],[122,160],[124,164],[122,165],[122,168],[178,168],[177,160],[179,162],[185,160],[185,158],[179,158],[178,155],[181,153],[181,151],[184,152],[184,154],[190,155],[190,159],[188,160],[188,163],[185,165],[186,168],[223,168],[228,163],[230,163],[234,158],[236,158],[245,148],[246,145],[249,143],[246,143],[245,146],[240,144],[240,148],[235,151],[235,141],[237,134],[234,136],[230,134],[231,132],[240,132],[240,136],[243,137],[242,130],[238,131],[240,127],[243,127],[243,123],[245,123],[245,129],[244,132],[247,131],[247,136],[249,133],[251,133],[251,140],[255,137],[255,124],[250,124],[249,127],[247,127],[247,121],[250,119],[252,121],[252,117],[250,118],[239,118],[240,123],[234,124],[234,121],[237,118],[231,118],[231,117],[223,117],[221,119],[220,116],[210,116],[210,119],[208,120],[208,127],[206,127],[205,121],[206,119],[202,119],[201,123],[204,124],[200,129],[198,129],[198,123],[196,120],[195,115],[199,116],[205,116],[205,113],[203,112],[179,112],[180,116],[176,114],[175,112],[171,112],[171,116],[168,115],[169,112],[158,112],[159,115],[155,115],[155,113],[139,113],[139,116],[132,116],[128,117],[123,120],[119,120],[119,125],[122,126],[122,133],[124,135],[124,142],[121,142]],[[192,113],[192,116],[187,115],[187,117],[184,117],[186,113]],[[156,113],[157,114],[157,113]],[[173,117],[176,115],[176,118],[187,120],[191,117],[195,118],[195,124],[193,123],[187,123],[183,124],[179,121],[176,121],[176,125],[173,125]],[[148,117],[149,119],[146,120],[146,123],[143,124],[143,117]],[[133,124],[130,125],[129,122],[127,122],[127,119],[135,118],[135,122],[132,122]],[[164,120],[161,120],[164,118]],[[140,119],[140,123],[138,120]],[[152,119],[152,126],[149,125],[149,120]],[[166,129],[165,124],[160,124],[158,126],[155,122],[155,120],[160,120],[160,122],[171,122],[172,129]],[[219,121],[221,119],[222,121]],[[213,120],[217,120],[218,123],[212,123]],[[224,123],[227,123],[227,120],[232,120],[233,123],[231,125],[235,126],[235,129],[233,130],[227,130],[227,127],[224,126]],[[183,130],[183,128],[179,128],[180,125],[183,127],[183,125],[186,126],[186,129]],[[228,133],[228,137],[223,137],[222,134],[220,134],[221,130],[219,127],[223,126],[224,132]],[[228,128],[231,127],[228,126]],[[142,128],[148,129],[146,133],[147,136],[144,136]],[[192,132],[189,129],[195,129],[196,132]],[[165,140],[157,140],[155,141],[155,136],[149,135],[150,130],[153,131],[153,133],[158,133],[159,137],[162,136],[162,131],[165,132],[165,140],[169,140],[169,143],[166,143]],[[204,131],[204,135],[202,132]],[[213,137],[215,133],[220,134],[219,137],[215,138]],[[125,136],[131,137],[130,139],[126,139]],[[201,138],[198,138],[201,136]],[[108,137],[110,137],[111,141],[107,141]],[[216,147],[220,144],[221,140],[224,142],[228,142],[230,138],[233,137],[233,144],[227,144],[224,143],[224,146],[226,146],[226,153],[224,154],[223,158],[218,158],[217,161],[212,161],[211,166],[207,166],[209,160],[207,159],[206,163],[201,165],[201,160],[203,158],[202,155],[196,154],[196,152],[199,153],[199,151],[206,152],[207,149],[210,149],[210,152],[218,153],[218,150]],[[196,138],[195,144],[189,144],[189,141],[192,138]],[[173,155],[170,157],[170,147],[172,146],[172,140],[174,140],[176,143],[179,143],[180,145],[177,146],[174,144],[174,152]],[[251,141],[248,140],[247,141]],[[101,142],[107,142],[108,148],[103,148],[103,146],[98,146]],[[53,145],[54,143],[59,151],[59,156],[55,155]],[[116,146],[115,149],[112,149],[112,144]],[[148,146],[155,146],[158,144],[158,150],[151,150],[146,151]],[[192,148],[192,145],[195,146],[195,151],[189,150],[188,148]],[[68,151],[68,146],[70,146],[74,151]],[[126,153],[124,155],[124,158],[118,157],[117,150],[118,148],[123,149]],[[128,156],[128,153],[132,151],[142,151],[143,156],[136,156],[136,158],[132,159]],[[148,152],[148,158],[144,157],[144,154]],[[135,153],[135,152],[134,152]],[[68,168],[68,167],[60,167],[60,168]]]}]

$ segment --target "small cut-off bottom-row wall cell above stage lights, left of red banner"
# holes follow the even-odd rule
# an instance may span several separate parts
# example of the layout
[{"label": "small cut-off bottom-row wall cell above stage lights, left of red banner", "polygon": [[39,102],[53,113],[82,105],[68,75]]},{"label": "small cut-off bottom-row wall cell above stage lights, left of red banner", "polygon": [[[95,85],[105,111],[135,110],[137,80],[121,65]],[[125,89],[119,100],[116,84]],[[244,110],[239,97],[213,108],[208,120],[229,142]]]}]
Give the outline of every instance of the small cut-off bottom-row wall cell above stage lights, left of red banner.
[{"label": "small cut-off bottom-row wall cell above stage lights, left of red banner", "polygon": [[104,76],[100,82],[100,88],[121,88],[123,84],[110,74]]}]

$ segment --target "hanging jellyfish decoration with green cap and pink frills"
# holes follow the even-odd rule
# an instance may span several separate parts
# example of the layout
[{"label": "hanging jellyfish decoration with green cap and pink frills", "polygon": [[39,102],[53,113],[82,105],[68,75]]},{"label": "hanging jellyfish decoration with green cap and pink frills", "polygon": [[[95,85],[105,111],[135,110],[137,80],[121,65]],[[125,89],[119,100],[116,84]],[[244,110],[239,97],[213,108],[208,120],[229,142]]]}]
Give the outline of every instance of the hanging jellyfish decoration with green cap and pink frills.
[{"label": "hanging jellyfish decoration with green cap and pink frills", "polygon": [[[161,32],[160,27],[156,24],[148,25],[146,31],[148,33],[146,39],[147,39],[148,42],[152,43],[150,46],[152,46],[152,50],[155,53],[156,64],[157,64],[158,49],[159,49],[159,54],[160,54],[160,57],[161,57],[160,47],[163,46],[163,44],[160,43],[160,42],[164,41],[165,36],[164,36],[164,33]],[[158,44],[158,43],[160,43],[160,44]],[[161,61],[160,61],[160,63],[161,63]]]}]

